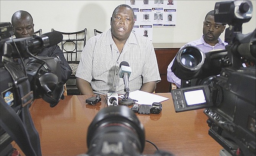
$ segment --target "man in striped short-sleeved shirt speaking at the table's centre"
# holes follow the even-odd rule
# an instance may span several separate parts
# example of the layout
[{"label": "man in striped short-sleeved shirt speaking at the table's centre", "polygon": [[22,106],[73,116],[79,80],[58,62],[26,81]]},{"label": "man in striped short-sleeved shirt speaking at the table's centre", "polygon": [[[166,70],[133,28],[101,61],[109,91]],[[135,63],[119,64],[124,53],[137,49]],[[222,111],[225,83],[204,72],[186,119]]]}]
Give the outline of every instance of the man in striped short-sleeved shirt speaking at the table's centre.
[{"label": "man in striped short-sleeved shirt speaking at the table's centre", "polygon": [[125,84],[118,73],[122,61],[131,67],[131,92],[155,91],[161,78],[154,47],[148,38],[132,32],[133,25],[133,9],[119,5],[113,11],[111,29],[87,41],[76,71],[76,86],[81,94],[124,94]]}]

